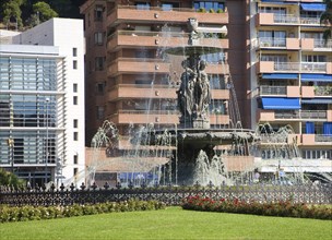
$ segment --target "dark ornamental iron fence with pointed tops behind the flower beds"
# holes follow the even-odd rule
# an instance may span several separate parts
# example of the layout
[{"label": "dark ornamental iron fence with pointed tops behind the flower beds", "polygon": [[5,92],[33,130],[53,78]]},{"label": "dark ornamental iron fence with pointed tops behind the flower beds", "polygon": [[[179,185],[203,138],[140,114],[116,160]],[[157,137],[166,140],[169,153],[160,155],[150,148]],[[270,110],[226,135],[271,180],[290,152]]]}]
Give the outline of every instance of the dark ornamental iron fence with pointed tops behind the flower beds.
[{"label": "dark ornamental iron fence with pointed tops behind the flower beds", "polygon": [[332,184],[319,185],[222,185],[218,188],[212,184],[208,187],[162,187],[155,185],[147,188],[121,188],[118,184],[116,188],[109,188],[106,183],[104,188],[92,185],[86,189],[84,184],[76,189],[73,184],[66,189],[61,185],[56,189],[52,185],[49,190],[44,189],[25,189],[12,190],[1,188],[0,204],[10,206],[34,205],[34,206],[50,206],[50,205],[73,205],[73,204],[95,204],[104,202],[119,202],[129,199],[139,199],[143,201],[157,200],[167,205],[180,205],[181,201],[188,196],[200,195],[214,200],[239,199],[244,201],[286,201],[292,200],[296,203],[308,204],[331,204],[332,203]]}]

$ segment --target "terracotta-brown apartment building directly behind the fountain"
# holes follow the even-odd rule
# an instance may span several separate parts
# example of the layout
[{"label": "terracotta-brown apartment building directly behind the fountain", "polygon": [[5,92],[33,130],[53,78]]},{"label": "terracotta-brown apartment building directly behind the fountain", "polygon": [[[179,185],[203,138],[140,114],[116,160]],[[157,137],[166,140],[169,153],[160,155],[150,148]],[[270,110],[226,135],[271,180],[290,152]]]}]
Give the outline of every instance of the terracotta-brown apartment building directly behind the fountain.
[{"label": "terracotta-brown apartment building directly behind the fountain", "polygon": [[[246,33],[246,15],[239,13],[235,3],[227,4],[225,1],[86,1],[81,7],[86,38],[86,144],[90,145],[105,119],[116,123],[123,135],[129,124],[151,122],[165,128],[179,122],[176,109],[179,75],[176,74],[182,69],[179,61],[165,61],[161,52],[187,44],[189,17],[195,17],[200,27],[208,31],[204,45],[224,49],[222,55],[205,58],[213,88],[212,128],[229,125],[227,61],[237,62],[232,67],[232,76],[235,83],[240,82],[246,74],[242,58],[246,45],[234,41],[230,51],[236,53],[228,58],[227,36]],[[217,34],[229,24],[229,8],[239,17],[228,34]],[[240,82],[242,86],[244,83]],[[246,87],[241,91],[246,92]],[[246,95],[239,101],[245,98]]]}]

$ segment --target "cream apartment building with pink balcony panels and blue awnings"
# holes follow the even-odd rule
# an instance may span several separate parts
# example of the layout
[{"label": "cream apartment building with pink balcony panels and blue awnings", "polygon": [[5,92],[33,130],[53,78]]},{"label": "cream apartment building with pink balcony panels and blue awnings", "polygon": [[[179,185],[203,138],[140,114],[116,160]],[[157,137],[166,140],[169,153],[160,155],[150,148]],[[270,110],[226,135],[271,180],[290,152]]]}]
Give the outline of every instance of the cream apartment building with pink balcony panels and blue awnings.
[{"label": "cream apartment building with pink balcony panels and blue awnings", "polygon": [[[332,43],[322,37],[324,10],[321,0],[250,2],[251,123],[293,129],[286,142],[298,145],[303,160],[284,166],[288,172],[332,171]],[[264,149],[271,142],[261,143],[263,171],[286,160]]]}]

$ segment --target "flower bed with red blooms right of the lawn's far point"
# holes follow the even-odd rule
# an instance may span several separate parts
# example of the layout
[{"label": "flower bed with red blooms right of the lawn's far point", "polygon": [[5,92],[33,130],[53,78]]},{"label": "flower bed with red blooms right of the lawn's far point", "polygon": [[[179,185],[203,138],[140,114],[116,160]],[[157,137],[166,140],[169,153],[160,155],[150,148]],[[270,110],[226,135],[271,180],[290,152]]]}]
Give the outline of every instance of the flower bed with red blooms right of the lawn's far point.
[{"label": "flower bed with red blooms right of the lawn's far point", "polygon": [[292,201],[278,201],[259,203],[254,201],[241,201],[239,199],[221,199],[218,201],[197,196],[189,196],[182,202],[183,209],[209,211],[221,213],[253,214],[262,216],[301,217],[317,219],[332,219],[332,208],[324,206],[293,203]]}]

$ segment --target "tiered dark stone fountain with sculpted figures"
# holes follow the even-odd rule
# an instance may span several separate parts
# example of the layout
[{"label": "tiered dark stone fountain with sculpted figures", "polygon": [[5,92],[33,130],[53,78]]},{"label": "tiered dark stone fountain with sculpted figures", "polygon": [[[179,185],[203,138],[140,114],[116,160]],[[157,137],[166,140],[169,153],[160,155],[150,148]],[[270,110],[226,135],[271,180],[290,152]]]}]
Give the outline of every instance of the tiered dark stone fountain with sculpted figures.
[{"label": "tiered dark stone fountain with sculpted figures", "polygon": [[[169,181],[186,185],[195,182],[227,183],[229,178],[222,155],[228,153],[228,156],[249,156],[249,144],[257,137],[251,130],[211,129],[211,87],[209,75],[205,73],[206,61],[201,59],[201,56],[222,52],[223,49],[200,45],[202,33],[198,31],[195,19],[189,19],[189,28],[191,32],[188,45],[165,49],[167,55],[186,57],[181,64],[183,72],[180,75],[179,88],[176,92],[180,123],[174,129],[166,130],[168,142],[175,146],[169,167]],[[153,130],[146,131],[140,140],[134,137],[132,143],[158,146],[163,139],[165,130]],[[230,147],[220,148],[226,145]]]}]

